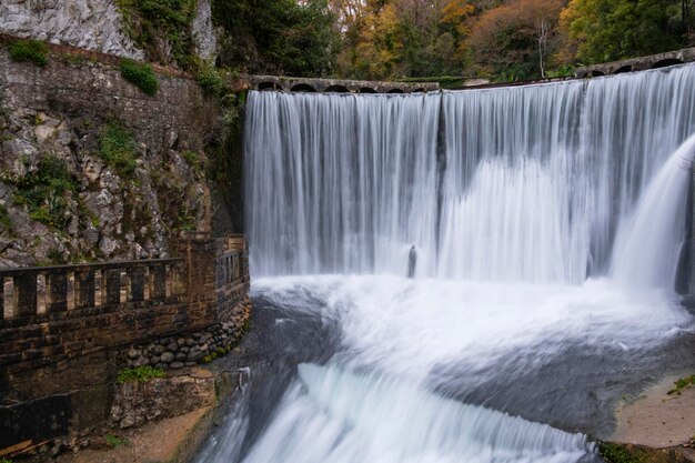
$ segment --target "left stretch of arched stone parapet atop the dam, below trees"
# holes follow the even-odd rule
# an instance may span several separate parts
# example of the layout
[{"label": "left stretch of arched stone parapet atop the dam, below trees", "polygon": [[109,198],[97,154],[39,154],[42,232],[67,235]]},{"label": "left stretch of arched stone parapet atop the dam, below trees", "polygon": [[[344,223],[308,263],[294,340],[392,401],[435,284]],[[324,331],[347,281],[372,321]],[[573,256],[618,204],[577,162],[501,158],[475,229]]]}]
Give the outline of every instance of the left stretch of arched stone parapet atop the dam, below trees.
[{"label": "left stretch of arched stone parapet atop the dam, below trees", "polygon": [[235,90],[282,90],[322,93],[415,93],[440,90],[435,82],[379,82],[362,80],[311,79],[242,74],[234,79]]}]

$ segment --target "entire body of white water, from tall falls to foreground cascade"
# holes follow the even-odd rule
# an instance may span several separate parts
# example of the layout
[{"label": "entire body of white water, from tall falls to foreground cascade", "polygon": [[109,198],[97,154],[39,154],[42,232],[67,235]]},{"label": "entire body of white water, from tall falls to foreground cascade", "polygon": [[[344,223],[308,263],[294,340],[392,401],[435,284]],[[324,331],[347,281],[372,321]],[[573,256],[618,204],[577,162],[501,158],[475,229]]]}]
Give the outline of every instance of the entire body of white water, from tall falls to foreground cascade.
[{"label": "entire body of white water, from tall falls to foreground cascade", "polygon": [[201,462],[595,459],[548,424],[605,436],[616,394],[692,359],[673,348],[695,326],[673,288],[693,89],[683,66],[431,94],[252,92],[256,311],[281,313],[276,333],[332,326],[306,340],[334,345],[302,356],[288,338],[314,363]]}]

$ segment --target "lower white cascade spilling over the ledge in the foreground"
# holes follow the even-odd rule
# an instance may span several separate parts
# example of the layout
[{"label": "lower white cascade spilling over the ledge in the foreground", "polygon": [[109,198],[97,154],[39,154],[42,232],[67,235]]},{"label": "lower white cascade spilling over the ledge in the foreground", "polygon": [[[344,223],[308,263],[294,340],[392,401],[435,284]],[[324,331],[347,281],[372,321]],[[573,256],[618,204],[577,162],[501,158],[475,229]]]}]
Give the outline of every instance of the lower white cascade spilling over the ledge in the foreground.
[{"label": "lower white cascade spilling over the ledge in the foreground", "polygon": [[442,399],[407,382],[302,364],[244,462],[554,463],[590,450],[581,434]]}]

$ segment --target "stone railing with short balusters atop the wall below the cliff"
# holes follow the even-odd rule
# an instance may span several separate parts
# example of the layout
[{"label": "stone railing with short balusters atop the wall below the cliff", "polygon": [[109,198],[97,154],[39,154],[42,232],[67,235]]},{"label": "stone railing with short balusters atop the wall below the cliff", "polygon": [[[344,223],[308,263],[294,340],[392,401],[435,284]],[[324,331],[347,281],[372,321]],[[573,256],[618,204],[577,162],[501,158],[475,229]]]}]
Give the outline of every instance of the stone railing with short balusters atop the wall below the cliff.
[{"label": "stone railing with short balusters atop the wall below the cliff", "polygon": [[0,320],[173,301],[184,294],[182,259],[0,270]]}]

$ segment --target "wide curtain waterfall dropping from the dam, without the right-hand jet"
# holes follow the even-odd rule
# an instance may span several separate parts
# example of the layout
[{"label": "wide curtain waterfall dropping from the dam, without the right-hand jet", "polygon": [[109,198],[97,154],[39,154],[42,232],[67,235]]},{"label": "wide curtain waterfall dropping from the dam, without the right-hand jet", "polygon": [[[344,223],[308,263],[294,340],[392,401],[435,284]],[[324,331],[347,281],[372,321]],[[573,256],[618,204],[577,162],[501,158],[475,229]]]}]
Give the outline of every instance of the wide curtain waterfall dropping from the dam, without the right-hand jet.
[{"label": "wide curtain waterfall dropping from the dam, without the right-hand jet", "polygon": [[252,92],[256,275],[581,284],[695,132],[695,67],[409,95]]}]

